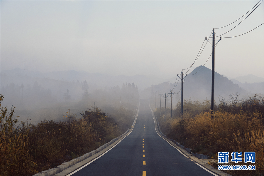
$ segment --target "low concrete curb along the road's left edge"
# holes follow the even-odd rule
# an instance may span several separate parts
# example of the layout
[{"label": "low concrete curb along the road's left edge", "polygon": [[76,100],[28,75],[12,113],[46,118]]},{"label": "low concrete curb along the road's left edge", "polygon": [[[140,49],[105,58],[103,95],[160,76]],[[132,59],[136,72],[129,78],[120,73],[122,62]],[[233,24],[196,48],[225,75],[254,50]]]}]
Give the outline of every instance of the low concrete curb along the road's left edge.
[{"label": "low concrete curb along the road's left edge", "polygon": [[[138,107],[137,107],[137,110],[136,110],[136,117],[137,117],[137,115],[138,115],[138,110],[139,110],[139,102],[138,102]],[[136,118],[135,118],[135,120],[134,120],[134,122],[133,122],[132,127],[135,125],[135,123],[136,123]],[[93,151],[91,151],[91,152],[89,152],[89,153],[86,153],[86,154],[84,154],[84,155],[82,155],[82,156],[80,156],[80,157],[77,157],[77,158],[75,158],[75,159],[73,159],[73,160],[70,160],[70,161],[68,161],[68,162],[64,162],[64,163],[62,163],[61,165],[59,165],[59,166],[57,166],[57,167],[55,167],[55,168],[52,168],[52,169],[49,169],[49,170],[44,170],[44,171],[42,171],[42,172],[36,173],[36,174],[33,175],[33,176],[53,176],[53,175],[55,175],[55,174],[57,174],[57,173],[60,173],[60,172],[62,172],[63,170],[65,170],[65,169],[67,169],[67,168],[69,168],[69,167],[71,167],[71,166],[77,164],[78,162],[81,162],[81,161],[87,159],[88,157],[91,157],[92,155],[94,155],[94,154],[100,152],[100,151],[103,150],[104,148],[106,148],[106,147],[108,147],[109,145],[111,145],[112,143],[114,143],[114,142],[115,142],[116,140],[118,140],[119,138],[121,138],[121,137],[123,137],[124,135],[126,135],[128,132],[130,132],[130,130],[132,130],[132,128],[130,128],[130,129],[128,128],[128,130],[127,130],[124,134],[118,136],[118,137],[115,138],[115,139],[112,139],[110,142],[105,143],[104,145],[102,145],[101,147],[97,148],[96,150],[93,150]]]}]

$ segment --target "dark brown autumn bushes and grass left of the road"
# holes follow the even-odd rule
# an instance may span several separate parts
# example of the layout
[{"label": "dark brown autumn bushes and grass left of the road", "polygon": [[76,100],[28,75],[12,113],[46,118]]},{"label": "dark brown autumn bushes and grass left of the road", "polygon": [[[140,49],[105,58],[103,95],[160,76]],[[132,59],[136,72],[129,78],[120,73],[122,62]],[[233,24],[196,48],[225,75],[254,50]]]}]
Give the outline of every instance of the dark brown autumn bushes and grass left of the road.
[{"label": "dark brown autumn bushes and grass left of the road", "polygon": [[[3,98],[0,95],[0,107]],[[15,107],[1,107],[0,175],[30,176],[97,149],[131,127],[136,113],[131,106],[132,110],[108,108],[108,115],[91,107],[80,113],[81,118],[68,109],[62,121],[36,125],[18,123]]]}]

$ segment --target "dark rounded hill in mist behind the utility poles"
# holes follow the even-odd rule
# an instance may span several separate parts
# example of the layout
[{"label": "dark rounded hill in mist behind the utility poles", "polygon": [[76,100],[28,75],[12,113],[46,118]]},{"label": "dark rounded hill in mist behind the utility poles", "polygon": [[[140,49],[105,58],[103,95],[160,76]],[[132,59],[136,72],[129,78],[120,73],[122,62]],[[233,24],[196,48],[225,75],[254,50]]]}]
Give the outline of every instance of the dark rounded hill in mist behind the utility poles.
[{"label": "dark rounded hill in mist behind the utility poles", "polygon": [[[184,98],[191,98],[193,100],[204,100],[205,98],[211,99],[211,83],[211,69],[202,66],[195,68],[185,78],[183,85]],[[220,75],[217,72],[215,72],[214,91],[216,101],[218,100],[218,98],[221,98],[222,95],[224,98],[226,98],[226,100],[229,98],[229,95],[233,95],[236,93],[240,94],[240,98],[248,95],[248,92],[246,90],[243,90],[237,84],[234,84],[231,80],[229,80],[227,77]]]}]

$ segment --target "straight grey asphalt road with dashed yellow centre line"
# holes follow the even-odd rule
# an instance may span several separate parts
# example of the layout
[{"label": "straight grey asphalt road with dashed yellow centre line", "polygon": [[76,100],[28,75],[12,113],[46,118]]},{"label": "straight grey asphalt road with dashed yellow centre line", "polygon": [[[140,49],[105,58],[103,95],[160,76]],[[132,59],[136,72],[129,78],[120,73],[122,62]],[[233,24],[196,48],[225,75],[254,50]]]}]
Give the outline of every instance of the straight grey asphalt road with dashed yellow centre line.
[{"label": "straight grey asphalt road with dashed yellow centre line", "polygon": [[132,132],[103,156],[69,176],[212,176],[155,130],[148,100],[141,100]]}]

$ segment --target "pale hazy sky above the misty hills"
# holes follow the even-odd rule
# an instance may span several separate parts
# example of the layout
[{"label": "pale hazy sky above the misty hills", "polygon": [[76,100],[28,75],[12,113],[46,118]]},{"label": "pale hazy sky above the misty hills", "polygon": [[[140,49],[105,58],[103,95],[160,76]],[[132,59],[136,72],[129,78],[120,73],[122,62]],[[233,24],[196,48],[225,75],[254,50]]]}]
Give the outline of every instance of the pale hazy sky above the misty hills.
[{"label": "pale hazy sky above the misty hills", "polygon": [[[213,28],[236,21],[258,2],[1,0],[1,70],[171,78],[194,62]],[[215,29],[216,36],[246,16]],[[263,22],[264,2],[223,37],[241,35]],[[190,71],[211,52],[207,43]],[[205,66],[211,64],[210,57]],[[264,24],[245,35],[222,38],[215,49],[215,71],[233,78],[264,77]]]}]

